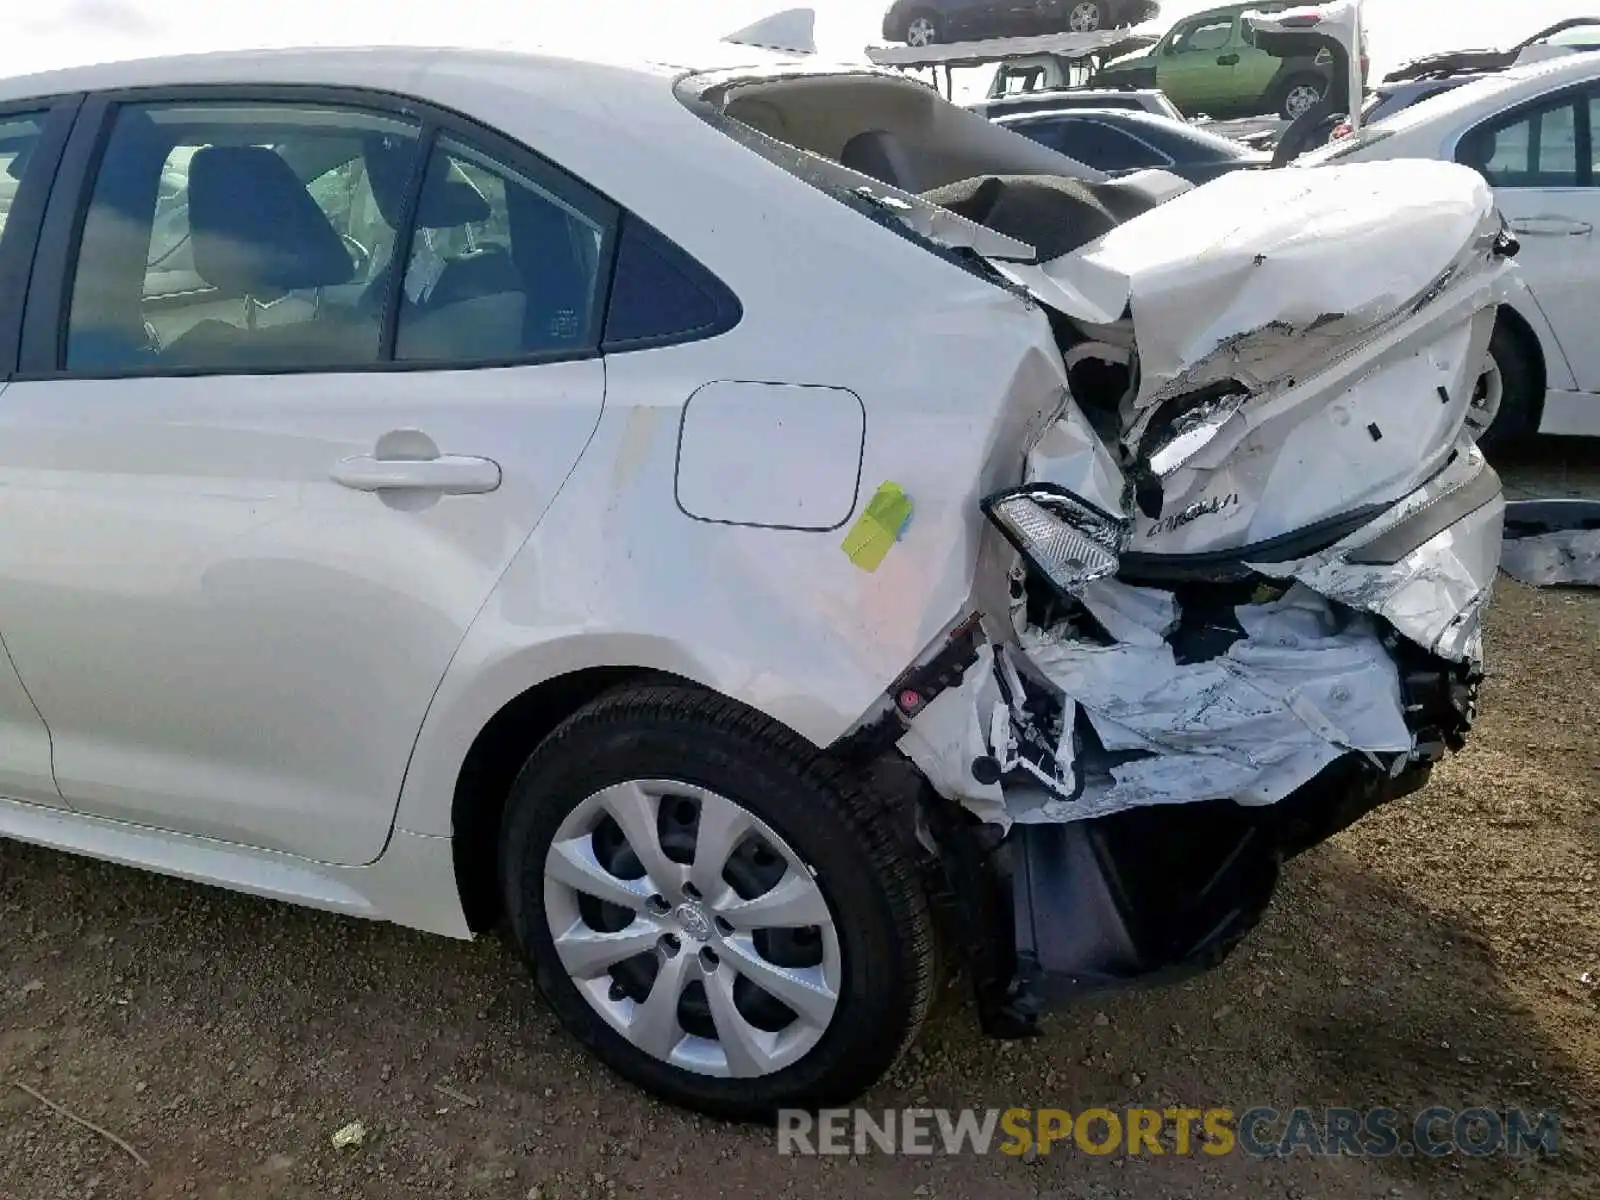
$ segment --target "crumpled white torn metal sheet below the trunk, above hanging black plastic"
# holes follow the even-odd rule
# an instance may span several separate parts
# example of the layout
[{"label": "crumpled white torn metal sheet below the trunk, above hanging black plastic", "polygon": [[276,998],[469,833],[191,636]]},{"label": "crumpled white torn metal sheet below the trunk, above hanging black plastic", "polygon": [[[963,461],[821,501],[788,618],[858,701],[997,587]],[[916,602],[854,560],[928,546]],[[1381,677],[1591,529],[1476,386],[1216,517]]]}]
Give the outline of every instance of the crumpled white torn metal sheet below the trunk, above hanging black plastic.
[{"label": "crumpled white torn metal sheet below the trunk, above hanging black plastic", "polygon": [[1090,587],[1094,606],[1120,614],[1136,642],[1029,627],[1016,662],[986,648],[901,741],[942,795],[981,819],[1080,821],[1224,798],[1270,805],[1352,750],[1411,752],[1395,662],[1371,619],[1293,587],[1238,606],[1242,635],[1221,656],[1179,662],[1160,637],[1176,602],[1154,603],[1150,589],[1115,581]]}]

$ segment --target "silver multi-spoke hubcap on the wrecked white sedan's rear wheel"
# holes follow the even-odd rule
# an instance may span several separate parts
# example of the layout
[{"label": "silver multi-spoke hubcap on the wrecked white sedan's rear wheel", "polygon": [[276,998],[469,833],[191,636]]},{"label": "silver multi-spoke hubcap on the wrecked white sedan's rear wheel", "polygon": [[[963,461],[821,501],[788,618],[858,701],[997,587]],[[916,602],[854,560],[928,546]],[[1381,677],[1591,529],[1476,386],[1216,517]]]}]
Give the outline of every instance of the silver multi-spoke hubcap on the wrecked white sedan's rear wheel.
[{"label": "silver multi-spoke hubcap on the wrecked white sedan's rear wheel", "polygon": [[578,805],[544,859],[544,910],[594,1010],[683,1070],[782,1070],[838,1006],[838,933],[811,869],[702,787],[637,779]]}]

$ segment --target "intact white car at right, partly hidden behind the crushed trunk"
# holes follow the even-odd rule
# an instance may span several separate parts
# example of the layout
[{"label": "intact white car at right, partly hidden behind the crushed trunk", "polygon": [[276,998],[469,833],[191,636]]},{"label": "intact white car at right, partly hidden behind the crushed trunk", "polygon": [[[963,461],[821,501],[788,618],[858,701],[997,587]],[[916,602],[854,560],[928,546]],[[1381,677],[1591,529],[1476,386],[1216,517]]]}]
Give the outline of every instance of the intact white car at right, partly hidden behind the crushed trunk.
[{"label": "intact white car at right, partly hidden behind the crushed trunk", "polygon": [[1480,397],[1488,442],[1600,435],[1597,117],[1600,54],[1571,54],[1430,96],[1294,163],[1442,158],[1493,186],[1526,288],[1494,330]]}]

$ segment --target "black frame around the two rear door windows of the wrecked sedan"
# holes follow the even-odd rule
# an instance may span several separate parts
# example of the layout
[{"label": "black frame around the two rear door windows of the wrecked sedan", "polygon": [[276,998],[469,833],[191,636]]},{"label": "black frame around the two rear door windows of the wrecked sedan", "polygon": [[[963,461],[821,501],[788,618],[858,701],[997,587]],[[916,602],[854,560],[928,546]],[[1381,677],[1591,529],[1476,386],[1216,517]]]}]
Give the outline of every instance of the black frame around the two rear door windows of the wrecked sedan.
[{"label": "black frame around the two rear door windows of the wrecked sedan", "polygon": [[[318,366],[133,366],[122,370],[86,371],[67,368],[67,322],[70,320],[72,286],[77,275],[77,253],[82,242],[83,222],[88,218],[90,202],[94,197],[94,176],[104,157],[106,146],[115,126],[115,115],[122,106],[128,104],[328,104],[366,110],[376,115],[403,117],[421,125],[418,134],[418,170],[413,171],[406,198],[402,206],[405,229],[395,242],[395,262],[403,270],[410,261],[413,216],[421,200],[422,182],[427,163],[440,134],[446,134],[478,154],[502,163],[504,166],[538,181],[541,176],[554,174],[563,182],[563,189],[571,189],[584,197],[586,203],[595,205],[598,213],[589,213],[606,230],[606,240],[600,248],[595,264],[595,304],[600,320],[595,322],[589,344],[573,350],[536,350],[502,358],[394,358],[394,336],[398,328],[398,298],[403,293],[403,282],[390,288],[384,299],[382,334],[378,362],[371,363],[338,363]],[[29,101],[18,106],[21,112],[35,112],[38,102]],[[611,275],[616,258],[616,230],[621,227],[621,214],[626,211],[611,197],[605,195],[589,182],[579,179],[558,163],[546,158],[533,147],[528,147],[506,133],[482,122],[454,112],[429,101],[414,99],[392,91],[371,88],[346,88],[322,83],[310,85],[234,85],[234,83],[190,83],[171,86],[117,88],[90,93],[78,110],[77,123],[66,141],[61,165],[56,171],[58,187],[50,197],[38,230],[38,246],[34,254],[32,278],[37,286],[30,288],[22,314],[21,346],[18,357],[18,381],[59,381],[59,379],[184,379],[184,378],[229,378],[229,376],[294,376],[294,374],[382,374],[390,371],[483,371],[507,366],[534,366],[541,363],[586,362],[603,357],[600,346],[605,312],[611,296]],[[0,344],[3,349],[3,344]]]}]

